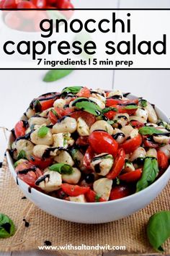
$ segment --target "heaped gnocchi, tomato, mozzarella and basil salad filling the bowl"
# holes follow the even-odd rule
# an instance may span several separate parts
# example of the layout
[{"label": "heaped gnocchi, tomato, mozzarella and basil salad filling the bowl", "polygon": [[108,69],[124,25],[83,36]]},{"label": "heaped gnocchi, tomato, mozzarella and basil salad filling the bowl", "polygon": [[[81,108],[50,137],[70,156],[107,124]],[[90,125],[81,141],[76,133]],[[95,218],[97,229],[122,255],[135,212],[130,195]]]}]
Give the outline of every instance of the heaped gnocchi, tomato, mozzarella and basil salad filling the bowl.
[{"label": "heaped gnocchi, tomato, mozzarella and basil salad filling the bowl", "polygon": [[13,129],[19,179],[72,202],[139,192],[169,166],[170,125],[143,98],[74,86],[35,98]]}]

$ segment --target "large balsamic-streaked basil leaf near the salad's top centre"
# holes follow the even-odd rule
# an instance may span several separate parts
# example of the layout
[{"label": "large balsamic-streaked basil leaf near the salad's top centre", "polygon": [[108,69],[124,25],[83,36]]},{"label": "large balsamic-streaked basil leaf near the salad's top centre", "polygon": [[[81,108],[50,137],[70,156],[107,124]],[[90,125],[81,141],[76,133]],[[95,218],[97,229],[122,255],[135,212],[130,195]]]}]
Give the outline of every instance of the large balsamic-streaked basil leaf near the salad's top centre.
[{"label": "large balsamic-streaked basil leaf near the salad's top centre", "polygon": [[99,116],[102,113],[102,109],[94,101],[89,100],[88,98],[76,98],[73,101],[72,106],[76,106],[83,111],[86,111],[94,116]]}]

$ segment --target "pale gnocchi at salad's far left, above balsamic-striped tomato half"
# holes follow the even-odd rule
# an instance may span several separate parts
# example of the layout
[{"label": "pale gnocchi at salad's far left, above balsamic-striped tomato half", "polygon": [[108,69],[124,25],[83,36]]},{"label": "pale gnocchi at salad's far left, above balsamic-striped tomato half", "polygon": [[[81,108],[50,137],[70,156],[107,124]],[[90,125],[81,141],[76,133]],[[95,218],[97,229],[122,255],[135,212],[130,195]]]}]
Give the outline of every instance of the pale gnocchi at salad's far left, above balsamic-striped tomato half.
[{"label": "pale gnocchi at salad's far left, above balsamic-striped tomato half", "polygon": [[24,152],[27,155],[27,158],[30,158],[30,155],[33,153],[33,148],[34,145],[30,140],[17,140],[16,142],[16,148],[17,148],[17,153],[19,153],[21,150],[24,150]]}]

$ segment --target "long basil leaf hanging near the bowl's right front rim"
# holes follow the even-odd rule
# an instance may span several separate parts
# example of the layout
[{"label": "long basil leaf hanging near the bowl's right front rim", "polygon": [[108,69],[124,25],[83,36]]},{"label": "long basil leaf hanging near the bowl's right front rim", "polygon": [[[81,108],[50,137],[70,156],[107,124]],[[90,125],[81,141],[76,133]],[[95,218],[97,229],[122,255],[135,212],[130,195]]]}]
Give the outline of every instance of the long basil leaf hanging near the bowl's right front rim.
[{"label": "long basil leaf hanging near the bowl's right front rim", "polygon": [[136,192],[146,189],[158,175],[158,161],[156,158],[146,158],[143,166],[143,174],[136,184]]}]

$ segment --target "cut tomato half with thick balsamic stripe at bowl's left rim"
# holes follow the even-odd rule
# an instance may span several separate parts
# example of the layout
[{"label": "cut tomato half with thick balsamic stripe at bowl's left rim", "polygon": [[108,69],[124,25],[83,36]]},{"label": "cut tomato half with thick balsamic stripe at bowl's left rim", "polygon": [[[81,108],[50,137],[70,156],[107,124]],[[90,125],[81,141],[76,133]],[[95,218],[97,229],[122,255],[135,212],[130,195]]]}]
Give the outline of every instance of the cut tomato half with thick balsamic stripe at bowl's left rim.
[{"label": "cut tomato half with thick balsamic stripe at bowl's left rim", "polygon": [[27,183],[31,187],[36,187],[35,181],[37,178],[42,176],[42,171],[40,171],[39,168],[35,167],[29,161],[19,163],[19,165],[15,168],[15,171],[17,172],[19,179],[22,179],[23,182]]}]

